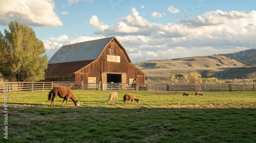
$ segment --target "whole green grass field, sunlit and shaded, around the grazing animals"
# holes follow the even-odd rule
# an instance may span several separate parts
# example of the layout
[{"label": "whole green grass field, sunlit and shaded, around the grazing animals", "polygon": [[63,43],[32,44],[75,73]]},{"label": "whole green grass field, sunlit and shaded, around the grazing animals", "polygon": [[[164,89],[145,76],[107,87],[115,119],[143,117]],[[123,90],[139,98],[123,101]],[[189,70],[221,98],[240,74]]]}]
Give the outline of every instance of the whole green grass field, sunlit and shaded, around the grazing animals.
[{"label": "whole green grass field, sunlit and shaded, around the grazing animals", "polygon": [[[181,92],[73,90],[81,107],[55,108],[48,92],[8,94],[8,139],[0,142],[255,142],[256,92]],[[123,105],[125,93],[141,100]],[[4,105],[1,93],[0,103]],[[4,109],[4,107],[3,107]],[[4,114],[4,113],[2,113]],[[2,121],[4,117],[2,115]]]}]

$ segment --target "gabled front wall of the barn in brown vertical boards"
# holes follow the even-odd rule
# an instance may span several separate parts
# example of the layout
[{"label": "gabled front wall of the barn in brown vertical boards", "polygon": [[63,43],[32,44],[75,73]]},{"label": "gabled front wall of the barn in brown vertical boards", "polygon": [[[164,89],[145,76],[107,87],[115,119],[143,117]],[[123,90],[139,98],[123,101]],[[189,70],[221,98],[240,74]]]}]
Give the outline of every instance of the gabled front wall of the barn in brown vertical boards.
[{"label": "gabled front wall of the barn in brown vertical boards", "polygon": [[[110,55],[109,48],[115,49],[115,55],[120,56],[120,62],[109,62],[106,61],[106,56]],[[121,46],[120,46],[121,47]],[[142,76],[141,78],[145,79],[144,73],[139,70],[133,63],[130,63],[128,59],[125,56],[125,51],[123,51],[118,45],[118,42],[115,40],[111,41],[108,45],[106,45],[106,48],[101,53],[98,60],[95,60],[88,66],[78,70],[76,73],[87,73],[86,76],[84,76],[84,81],[88,81],[88,77],[97,77],[97,83],[101,81],[101,73],[126,73],[126,83],[129,83],[129,79],[133,78],[136,79],[137,76]],[[77,80],[79,78],[76,78]],[[144,84],[144,80],[139,80],[141,83],[138,84]]]}]

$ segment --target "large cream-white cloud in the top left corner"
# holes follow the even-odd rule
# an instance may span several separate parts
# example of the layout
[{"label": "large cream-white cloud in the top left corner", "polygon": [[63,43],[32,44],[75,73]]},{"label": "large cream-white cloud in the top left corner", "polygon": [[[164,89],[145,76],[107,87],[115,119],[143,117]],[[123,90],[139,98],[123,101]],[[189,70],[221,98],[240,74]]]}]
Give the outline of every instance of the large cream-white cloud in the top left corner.
[{"label": "large cream-white cloud in the top left corner", "polygon": [[0,2],[0,25],[8,25],[16,20],[28,26],[62,26],[58,15],[53,11],[52,0],[13,0]]}]

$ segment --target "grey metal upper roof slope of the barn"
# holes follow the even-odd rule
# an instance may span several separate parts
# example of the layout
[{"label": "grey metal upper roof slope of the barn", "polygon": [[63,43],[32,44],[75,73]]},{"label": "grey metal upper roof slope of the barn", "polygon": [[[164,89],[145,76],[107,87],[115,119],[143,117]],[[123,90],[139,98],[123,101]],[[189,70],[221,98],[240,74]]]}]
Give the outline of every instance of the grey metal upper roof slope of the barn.
[{"label": "grey metal upper roof slope of the barn", "polygon": [[63,45],[49,60],[49,64],[98,59],[105,46],[115,37]]}]

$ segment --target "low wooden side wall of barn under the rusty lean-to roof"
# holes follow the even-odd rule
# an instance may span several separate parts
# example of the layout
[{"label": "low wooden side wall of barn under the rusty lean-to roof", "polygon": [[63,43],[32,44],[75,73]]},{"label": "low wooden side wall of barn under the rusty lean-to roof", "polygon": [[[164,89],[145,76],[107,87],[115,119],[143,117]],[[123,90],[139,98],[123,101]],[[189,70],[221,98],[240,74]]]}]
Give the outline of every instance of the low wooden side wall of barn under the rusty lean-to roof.
[{"label": "low wooden side wall of barn under the rusty lean-to roof", "polygon": [[75,81],[75,74],[50,75],[45,77],[46,81]]}]

